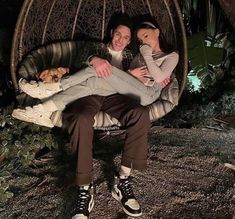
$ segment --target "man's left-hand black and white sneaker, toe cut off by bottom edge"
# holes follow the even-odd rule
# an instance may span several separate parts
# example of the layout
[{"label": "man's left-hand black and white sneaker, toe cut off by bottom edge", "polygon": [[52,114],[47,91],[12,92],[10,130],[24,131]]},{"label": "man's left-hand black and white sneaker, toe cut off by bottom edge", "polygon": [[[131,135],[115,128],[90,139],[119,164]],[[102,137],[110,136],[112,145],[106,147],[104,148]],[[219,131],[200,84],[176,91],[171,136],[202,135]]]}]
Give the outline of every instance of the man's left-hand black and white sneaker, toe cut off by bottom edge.
[{"label": "man's left-hand black and white sneaker, toe cut off by bottom edge", "polygon": [[88,219],[94,207],[92,186],[79,186],[75,215],[72,219]]}]

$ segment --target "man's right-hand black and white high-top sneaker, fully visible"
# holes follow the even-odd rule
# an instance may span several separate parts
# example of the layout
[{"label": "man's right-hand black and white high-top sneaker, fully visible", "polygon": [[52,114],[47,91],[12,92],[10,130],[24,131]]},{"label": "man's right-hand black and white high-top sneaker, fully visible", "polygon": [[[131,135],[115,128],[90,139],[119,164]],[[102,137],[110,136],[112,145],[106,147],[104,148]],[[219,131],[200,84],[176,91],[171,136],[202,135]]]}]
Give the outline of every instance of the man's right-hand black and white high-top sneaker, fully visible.
[{"label": "man's right-hand black and white high-top sneaker, fully visible", "polygon": [[112,196],[121,203],[123,211],[132,216],[139,217],[142,211],[130,185],[130,177],[120,179],[115,177]]}]

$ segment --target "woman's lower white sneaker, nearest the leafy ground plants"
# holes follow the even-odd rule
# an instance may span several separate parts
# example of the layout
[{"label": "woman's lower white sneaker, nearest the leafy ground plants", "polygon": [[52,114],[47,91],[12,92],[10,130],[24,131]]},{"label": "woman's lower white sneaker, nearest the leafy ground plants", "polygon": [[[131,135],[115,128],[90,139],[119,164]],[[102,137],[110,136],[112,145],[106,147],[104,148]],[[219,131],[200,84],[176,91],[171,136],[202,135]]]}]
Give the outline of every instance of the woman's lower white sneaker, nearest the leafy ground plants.
[{"label": "woman's lower white sneaker, nearest the leafy ground plants", "polygon": [[50,116],[51,112],[47,112],[42,104],[35,105],[34,107],[26,107],[25,109],[14,109],[12,117],[25,121],[31,122],[37,125],[46,126],[49,128],[54,127]]}]

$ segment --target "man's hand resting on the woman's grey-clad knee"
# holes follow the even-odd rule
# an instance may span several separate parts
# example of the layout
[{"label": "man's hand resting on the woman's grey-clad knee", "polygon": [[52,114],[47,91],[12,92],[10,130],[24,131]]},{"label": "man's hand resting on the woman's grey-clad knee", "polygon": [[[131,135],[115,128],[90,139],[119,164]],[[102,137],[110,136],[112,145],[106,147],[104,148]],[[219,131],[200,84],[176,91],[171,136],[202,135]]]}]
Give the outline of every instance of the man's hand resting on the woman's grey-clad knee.
[{"label": "man's hand resting on the woman's grey-clad knee", "polygon": [[99,57],[93,57],[90,65],[95,69],[98,77],[106,78],[112,74],[112,65],[106,60]]}]

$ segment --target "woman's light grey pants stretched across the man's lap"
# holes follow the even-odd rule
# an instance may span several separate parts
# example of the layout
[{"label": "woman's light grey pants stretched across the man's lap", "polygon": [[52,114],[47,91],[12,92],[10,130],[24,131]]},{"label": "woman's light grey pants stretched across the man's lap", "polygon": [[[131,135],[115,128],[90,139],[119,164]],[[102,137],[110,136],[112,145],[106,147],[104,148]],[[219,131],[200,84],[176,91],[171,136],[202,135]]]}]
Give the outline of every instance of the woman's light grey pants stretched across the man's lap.
[{"label": "woman's light grey pants stretched across the man's lap", "polygon": [[152,87],[145,86],[132,75],[112,67],[112,74],[107,78],[99,78],[93,68],[87,67],[61,81],[62,90],[50,100],[59,110],[69,103],[89,95],[109,96],[123,94],[146,106],[160,96],[162,87],[155,83]]}]

